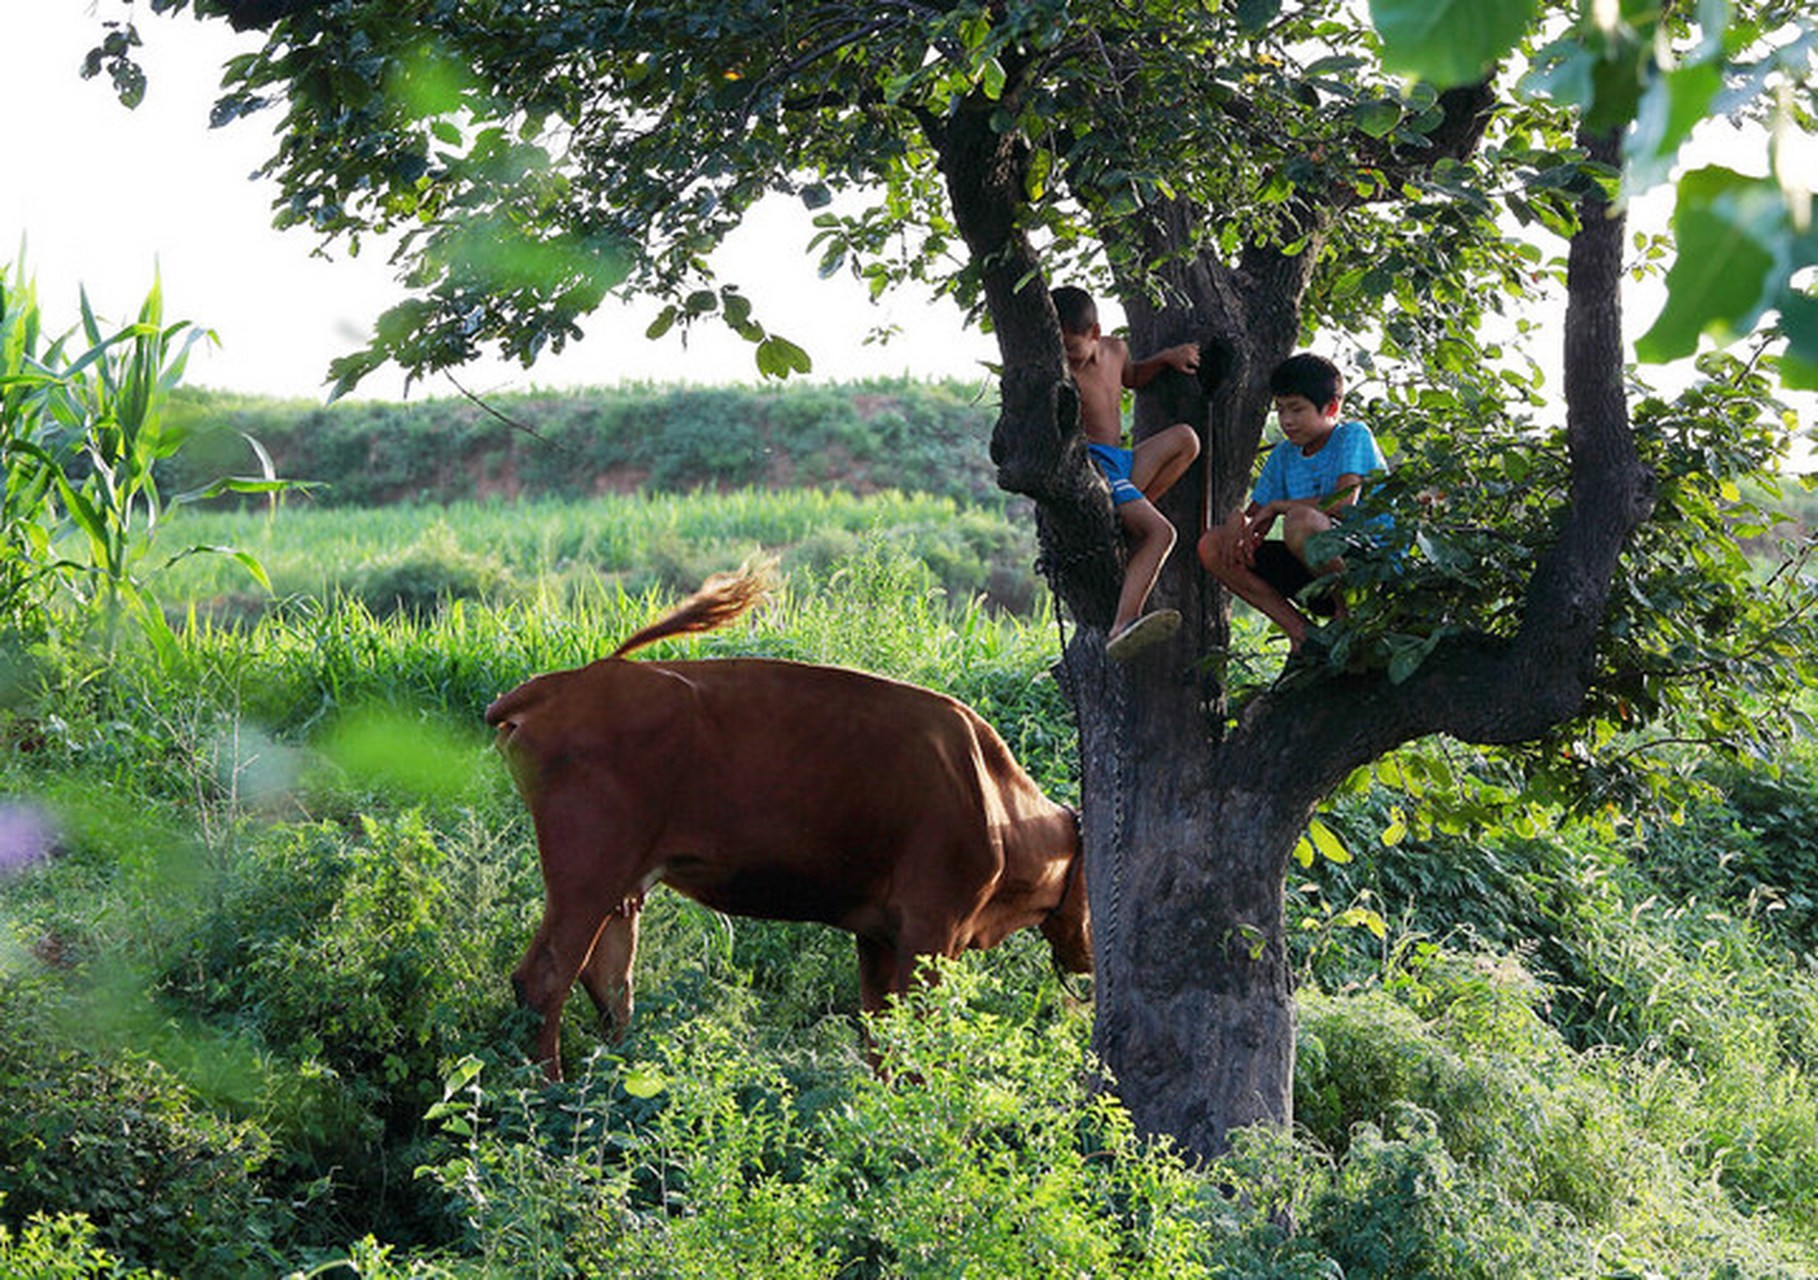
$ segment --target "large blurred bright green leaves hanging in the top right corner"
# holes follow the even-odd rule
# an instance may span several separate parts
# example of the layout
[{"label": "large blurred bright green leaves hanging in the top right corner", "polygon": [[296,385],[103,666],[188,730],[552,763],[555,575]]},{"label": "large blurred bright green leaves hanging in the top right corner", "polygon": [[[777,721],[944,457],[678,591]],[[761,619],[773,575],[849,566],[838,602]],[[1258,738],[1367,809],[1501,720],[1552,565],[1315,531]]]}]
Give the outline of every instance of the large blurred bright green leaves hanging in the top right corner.
[{"label": "large blurred bright green leaves hanging in the top right corner", "polygon": [[[1811,173],[1796,135],[1814,131],[1818,27],[1809,5],[1698,0],[1593,0],[1551,42],[1522,47],[1533,5],[1502,0],[1373,0],[1383,60],[1440,84],[1469,80],[1514,51],[1527,53],[1527,95],[1574,107],[1594,129],[1625,129],[1625,191],[1671,175],[1680,147],[1707,118],[1754,124],[1773,136],[1773,173],[1707,165],[1678,182],[1678,258],[1667,305],[1642,335],[1649,362],[1689,356],[1703,335],[1720,344],[1778,313],[1789,387],[1818,389],[1818,265]],[[1525,16],[1525,15],[1523,15]],[[1811,153],[1803,153],[1809,165]]]}]

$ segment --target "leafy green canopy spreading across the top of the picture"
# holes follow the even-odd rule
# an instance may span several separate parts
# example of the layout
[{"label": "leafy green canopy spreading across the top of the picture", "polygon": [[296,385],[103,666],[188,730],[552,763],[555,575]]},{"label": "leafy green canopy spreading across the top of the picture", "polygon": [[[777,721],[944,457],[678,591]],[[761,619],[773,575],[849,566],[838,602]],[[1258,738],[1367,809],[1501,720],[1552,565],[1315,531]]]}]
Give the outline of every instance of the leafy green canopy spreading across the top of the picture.
[{"label": "leafy green canopy spreading across the top of the picture", "polygon": [[[1776,167],[1682,182],[1671,300],[1640,355],[1671,360],[1776,316],[1782,378],[1818,387],[1818,233],[1791,142],[1813,131],[1818,35],[1796,0],[1376,0],[1373,25],[1334,0],[153,4],[184,7],[269,25],[227,65],[215,122],[284,113],[265,169],[276,222],[353,251],[395,236],[415,296],[336,364],[338,391],[385,360],[420,373],[487,344],[529,364],[613,289],[664,300],[653,336],[718,316],[764,373],[805,371],[807,353],[711,264],[769,193],[816,211],[824,273],[854,271],[874,295],[922,280],[976,311],[978,264],[929,145],[976,109],[1016,144],[1051,275],[1111,269],[1160,289],[1167,264],[1133,215],[1173,200],[1211,211],[1185,251],[1227,262],[1294,247],[1305,200],[1409,204],[1416,216],[1354,218],[1364,231],[1327,249],[1353,298],[1393,287],[1371,262],[1414,289],[1469,275],[1447,247],[1469,216],[1507,207],[1565,229],[1580,115],[1627,129],[1631,191],[1669,176],[1700,120],[1754,122],[1778,140]],[[85,65],[127,102],[144,89],[136,44],[116,25]],[[1525,65],[1503,140],[1403,187],[1396,160],[1433,145],[1438,89],[1500,64]],[[1422,242],[1442,265],[1422,271]],[[1476,253],[1482,280],[1520,280],[1509,253]]]}]

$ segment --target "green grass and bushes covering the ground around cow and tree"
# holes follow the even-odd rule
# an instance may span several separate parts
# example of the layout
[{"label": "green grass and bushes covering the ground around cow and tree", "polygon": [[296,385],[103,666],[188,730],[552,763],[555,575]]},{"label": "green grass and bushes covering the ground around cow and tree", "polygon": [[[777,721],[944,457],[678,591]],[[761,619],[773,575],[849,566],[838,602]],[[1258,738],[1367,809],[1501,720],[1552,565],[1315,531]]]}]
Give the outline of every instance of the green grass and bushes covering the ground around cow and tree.
[{"label": "green grass and bushes covering the ground around cow and tree", "polygon": [[[1445,744],[1360,780],[1322,815],[1351,862],[1291,882],[1298,1127],[1214,1167],[1085,1087],[1089,1015],[1033,935],[878,1025],[878,1076],[844,935],[667,891],[631,1036],[574,1000],[544,1087],[505,984],[534,851],[478,715],[674,582],[782,553],[773,609],[682,649],[954,693],[1074,798],[1053,618],[944,585],[914,531],[976,515],[949,504],[287,500],[165,545],[255,549],[280,604],[191,624],[256,593],[185,558],[155,578],[164,660],[15,636],[0,1271],[104,1247],[182,1276],[1818,1275],[1809,744],[1689,758],[1660,827],[1423,822],[1447,776],[1494,776]],[[662,545],[665,575],[636,551]],[[413,558],[433,589],[385,607]]]}]

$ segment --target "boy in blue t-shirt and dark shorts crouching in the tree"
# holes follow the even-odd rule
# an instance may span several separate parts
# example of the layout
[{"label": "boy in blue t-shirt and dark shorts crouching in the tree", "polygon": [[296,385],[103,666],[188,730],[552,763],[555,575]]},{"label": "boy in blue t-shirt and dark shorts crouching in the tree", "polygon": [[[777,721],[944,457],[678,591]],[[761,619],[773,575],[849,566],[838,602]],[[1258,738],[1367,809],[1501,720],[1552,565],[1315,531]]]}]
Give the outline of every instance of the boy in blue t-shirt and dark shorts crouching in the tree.
[{"label": "boy in blue t-shirt and dark shorts crouching in the tree", "polygon": [[[1344,569],[1342,560],[1307,564],[1307,542],[1344,520],[1364,478],[1387,471],[1376,436],[1362,422],[1342,422],[1345,378],[1331,360],[1302,353],[1269,375],[1269,393],[1285,440],[1269,451],[1244,511],[1205,531],[1200,564],[1287,633],[1289,651],[1307,638],[1307,616],[1294,596],[1314,578]],[[1274,522],[1282,540],[1269,542]],[[1333,615],[1336,600],[1313,605]]]}]

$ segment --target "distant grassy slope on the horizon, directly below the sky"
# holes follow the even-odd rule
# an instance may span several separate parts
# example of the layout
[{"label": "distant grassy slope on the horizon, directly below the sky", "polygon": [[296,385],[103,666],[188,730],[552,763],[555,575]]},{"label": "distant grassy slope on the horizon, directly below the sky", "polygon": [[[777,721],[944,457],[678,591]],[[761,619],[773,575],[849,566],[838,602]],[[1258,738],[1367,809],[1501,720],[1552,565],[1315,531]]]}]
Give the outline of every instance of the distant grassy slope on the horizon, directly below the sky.
[{"label": "distant grassy slope on the horizon, directly below the sky", "polygon": [[985,456],[994,416],[984,384],[909,380],[514,393],[484,407],[182,391],[173,420],[195,440],[167,478],[244,473],[253,436],[278,475],[329,482],[331,505],[800,485],[1002,505]]}]

